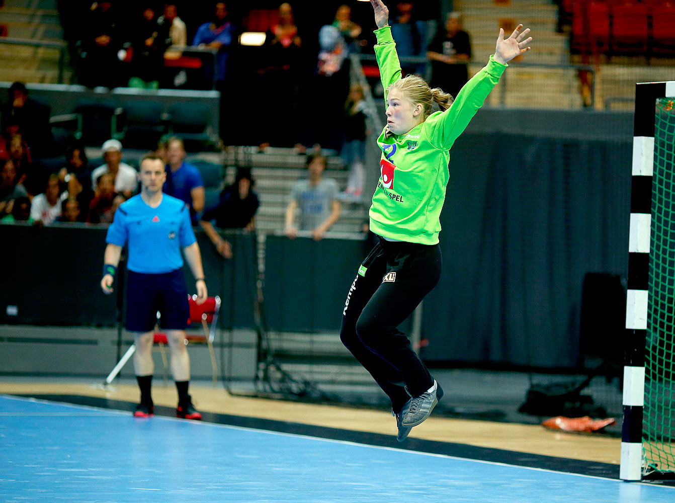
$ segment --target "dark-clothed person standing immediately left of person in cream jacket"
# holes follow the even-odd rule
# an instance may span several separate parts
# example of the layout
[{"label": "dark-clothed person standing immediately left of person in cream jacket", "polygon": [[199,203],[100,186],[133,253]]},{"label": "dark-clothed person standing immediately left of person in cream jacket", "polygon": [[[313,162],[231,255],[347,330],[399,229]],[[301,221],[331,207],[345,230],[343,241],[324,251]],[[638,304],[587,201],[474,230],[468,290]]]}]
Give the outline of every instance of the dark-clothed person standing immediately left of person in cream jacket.
[{"label": "dark-clothed person standing immediately left of person in cream jacket", "polygon": [[159,24],[155,9],[146,6],[131,34],[131,77],[129,87],[158,89],[164,68],[164,51],[169,43],[166,24]]}]

